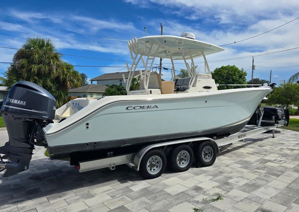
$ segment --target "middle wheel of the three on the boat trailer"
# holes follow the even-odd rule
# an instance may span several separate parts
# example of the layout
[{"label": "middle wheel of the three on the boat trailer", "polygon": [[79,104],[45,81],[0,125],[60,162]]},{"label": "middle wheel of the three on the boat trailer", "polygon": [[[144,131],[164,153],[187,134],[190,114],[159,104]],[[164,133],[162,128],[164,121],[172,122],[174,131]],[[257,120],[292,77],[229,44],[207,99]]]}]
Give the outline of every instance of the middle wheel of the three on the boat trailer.
[{"label": "middle wheel of the three on the boat trailer", "polygon": [[187,171],[193,162],[193,151],[188,145],[180,145],[171,150],[171,168],[175,172]]}]

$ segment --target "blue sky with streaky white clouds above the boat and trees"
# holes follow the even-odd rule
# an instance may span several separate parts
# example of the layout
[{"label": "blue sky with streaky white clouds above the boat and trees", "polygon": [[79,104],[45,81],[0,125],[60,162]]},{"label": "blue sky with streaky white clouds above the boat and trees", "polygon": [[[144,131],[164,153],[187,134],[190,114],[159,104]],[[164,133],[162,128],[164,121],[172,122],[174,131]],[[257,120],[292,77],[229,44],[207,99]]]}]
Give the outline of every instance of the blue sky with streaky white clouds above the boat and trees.
[{"label": "blue sky with streaky white clouds above the boat and trees", "polygon": [[[127,40],[146,36],[144,26],[148,35],[160,34],[162,23],[163,34],[193,32],[197,40],[224,45],[285,24],[299,17],[298,11],[298,0],[1,1],[0,62],[12,62],[17,51],[2,47],[20,48],[28,37],[50,38],[68,63],[108,66],[75,67],[94,78],[126,71],[123,67],[132,61]],[[254,77],[269,80],[272,70],[272,82],[280,84],[299,72],[296,47],[299,19],[260,36],[225,45],[224,51],[208,55],[207,60],[211,70],[223,65],[243,68],[249,80],[252,56],[256,55]],[[291,48],[295,49],[257,56]],[[162,65],[167,67],[168,63],[163,60]],[[7,67],[9,64],[0,63],[0,76]],[[175,67],[184,68],[179,62]],[[165,72],[163,77],[169,75]]]}]

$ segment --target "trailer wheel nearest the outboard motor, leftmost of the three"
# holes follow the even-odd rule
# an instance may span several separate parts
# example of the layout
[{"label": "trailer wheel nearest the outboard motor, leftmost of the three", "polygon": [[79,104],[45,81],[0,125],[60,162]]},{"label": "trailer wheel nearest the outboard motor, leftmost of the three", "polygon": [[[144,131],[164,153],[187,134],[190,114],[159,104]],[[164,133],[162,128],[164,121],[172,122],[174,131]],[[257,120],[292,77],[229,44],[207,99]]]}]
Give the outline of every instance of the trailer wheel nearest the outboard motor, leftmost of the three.
[{"label": "trailer wheel nearest the outboard motor, leftmost of the three", "polygon": [[139,173],[146,179],[159,177],[165,170],[166,156],[161,150],[151,150],[141,160]]}]

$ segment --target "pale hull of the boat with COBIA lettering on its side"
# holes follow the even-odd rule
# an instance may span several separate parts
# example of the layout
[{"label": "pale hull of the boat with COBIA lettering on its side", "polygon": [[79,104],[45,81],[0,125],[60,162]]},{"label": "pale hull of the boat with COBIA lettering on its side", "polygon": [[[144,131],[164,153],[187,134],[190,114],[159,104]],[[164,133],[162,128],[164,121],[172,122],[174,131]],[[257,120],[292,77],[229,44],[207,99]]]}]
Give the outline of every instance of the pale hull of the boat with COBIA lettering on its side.
[{"label": "pale hull of the boat with COBIA lettering on its side", "polygon": [[112,148],[242,129],[270,88],[109,96],[43,128],[51,154]]}]

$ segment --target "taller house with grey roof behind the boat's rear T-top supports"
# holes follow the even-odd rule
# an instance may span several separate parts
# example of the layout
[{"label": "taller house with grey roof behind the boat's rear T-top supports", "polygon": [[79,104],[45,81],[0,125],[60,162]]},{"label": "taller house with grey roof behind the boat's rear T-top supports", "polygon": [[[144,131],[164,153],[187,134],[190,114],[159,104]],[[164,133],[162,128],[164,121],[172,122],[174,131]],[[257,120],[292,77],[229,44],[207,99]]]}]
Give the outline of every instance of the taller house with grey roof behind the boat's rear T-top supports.
[{"label": "taller house with grey roof behind the boat's rear T-top supports", "polygon": [[[101,76],[97,76],[95,78],[92,78],[91,84],[93,82],[96,82],[98,85],[122,85],[126,87],[126,82],[124,82],[124,77],[123,74],[125,75],[125,79],[128,79],[129,76],[129,71],[125,72],[116,72],[116,73],[106,73],[102,74]],[[134,77],[137,77],[140,75],[139,71],[135,71]]]}]

